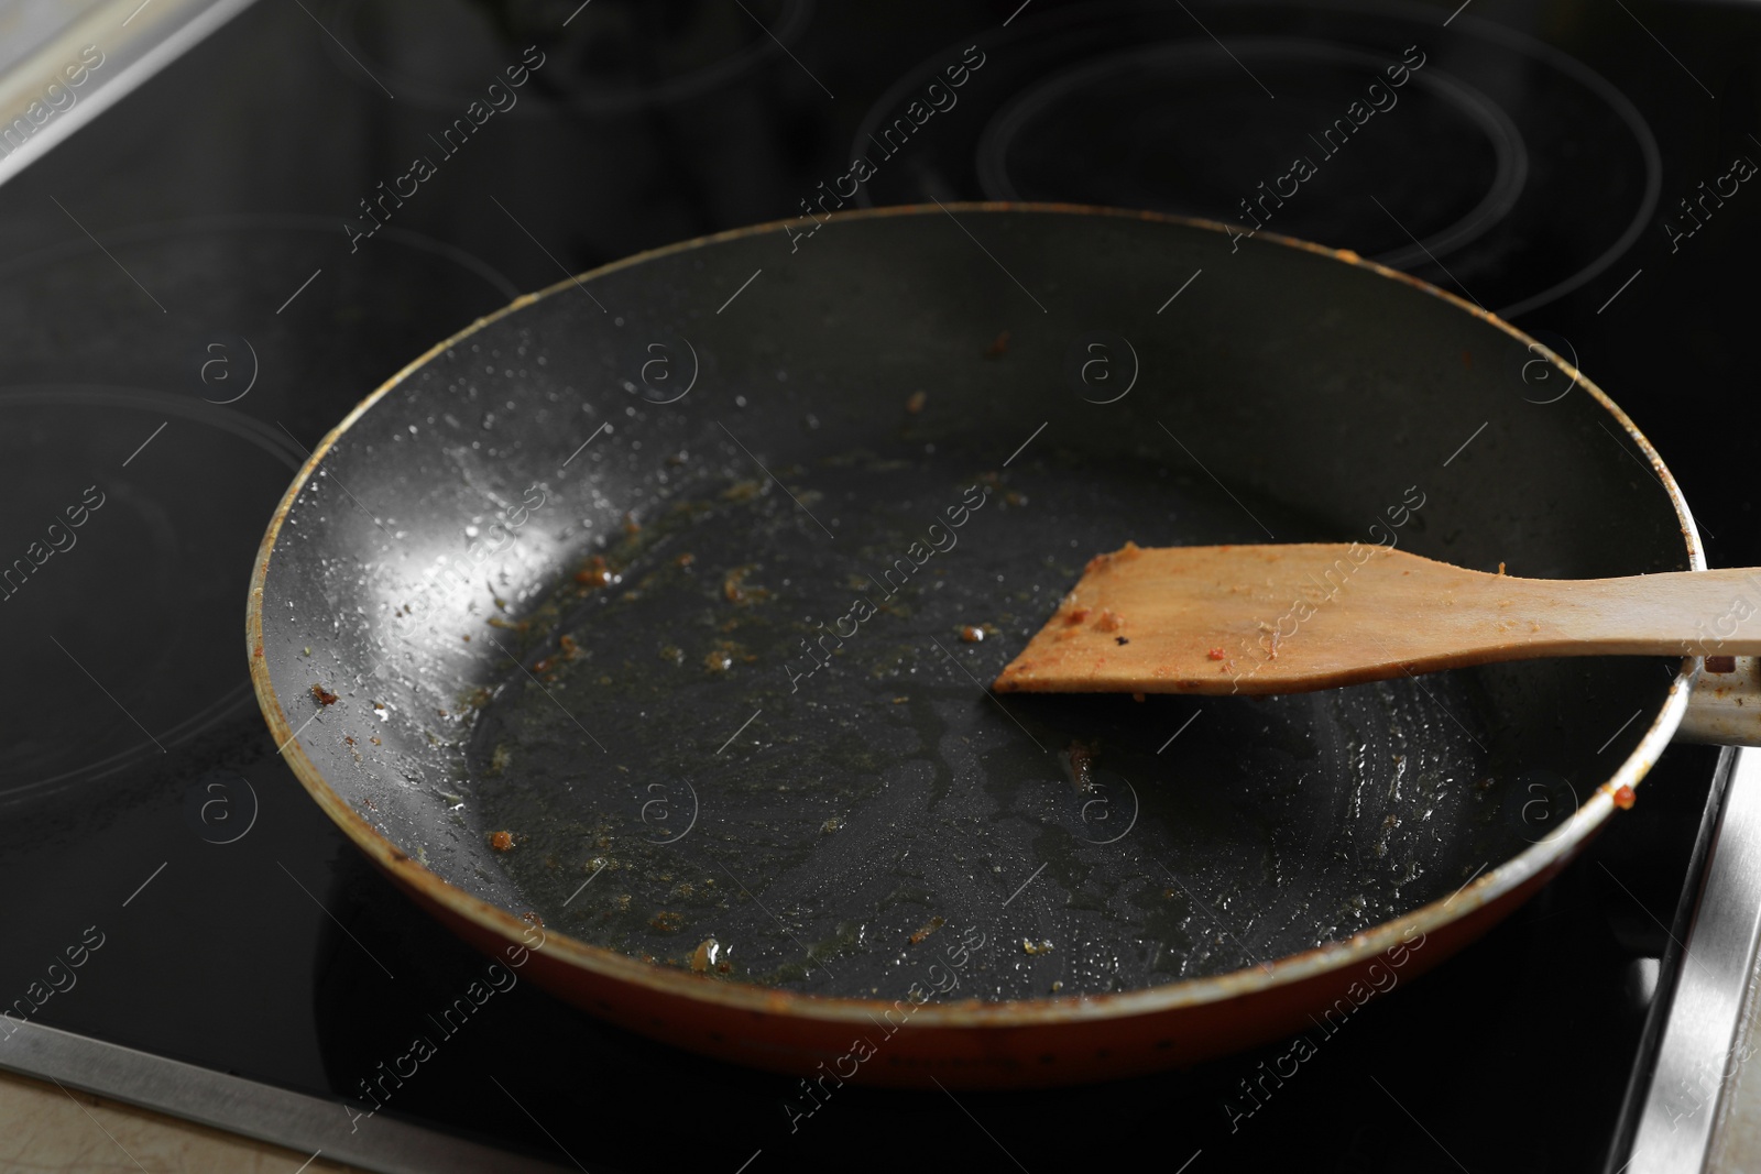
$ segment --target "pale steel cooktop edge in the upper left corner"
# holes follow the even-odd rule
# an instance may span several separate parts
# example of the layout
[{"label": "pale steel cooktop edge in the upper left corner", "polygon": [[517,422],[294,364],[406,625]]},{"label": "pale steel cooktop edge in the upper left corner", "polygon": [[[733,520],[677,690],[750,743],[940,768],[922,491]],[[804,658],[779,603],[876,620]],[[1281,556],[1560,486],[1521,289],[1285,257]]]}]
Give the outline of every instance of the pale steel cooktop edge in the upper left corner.
[{"label": "pale steel cooktop edge in the upper left corner", "polygon": [[[178,60],[192,46],[250,7],[254,0],[102,0],[69,21],[28,56],[0,72],[0,183],[41,158],[49,148],[97,118],[118,99]],[[81,65],[81,49],[93,46],[102,65],[69,86],[65,69]],[[51,109],[49,86],[70,95],[42,123],[32,107]],[[60,102],[60,99],[56,99]],[[33,130],[14,143],[4,134],[23,118]]]}]

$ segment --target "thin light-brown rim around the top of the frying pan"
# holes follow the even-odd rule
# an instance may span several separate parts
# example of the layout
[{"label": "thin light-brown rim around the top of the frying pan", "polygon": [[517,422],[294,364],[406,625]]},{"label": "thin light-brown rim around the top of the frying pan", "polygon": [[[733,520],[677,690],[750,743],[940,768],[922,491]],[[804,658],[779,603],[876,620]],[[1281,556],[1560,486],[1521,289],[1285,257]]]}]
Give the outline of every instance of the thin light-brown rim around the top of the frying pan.
[{"label": "thin light-brown rim around the top of the frying pan", "polygon": [[[1141,211],[1141,209],[1124,209],[1124,208],[1102,208],[1088,204],[1064,204],[1064,202],[1016,202],[1016,201],[960,201],[951,204],[898,204],[886,208],[859,208],[831,213],[833,220],[872,220],[880,216],[903,216],[903,215],[937,215],[951,211],[969,211],[969,213],[1053,213],[1053,215],[1078,215],[1078,216],[1116,216],[1127,220],[1146,220],[1155,224],[1178,224],[1183,227],[1203,229],[1217,234],[1229,234],[1231,229],[1226,224],[1215,220],[1203,220],[1196,216],[1176,216],[1168,213]],[[247,600],[245,614],[245,639],[247,639],[247,660],[250,664],[252,686],[257,695],[257,704],[262,709],[264,720],[269,725],[271,736],[276,739],[280,750],[278,755],[287,759],[292,767],[294,776],[306,789],[306,794],[319,804],[321,810],[335,822],[349,840],[354,841],[375,864],[379,864],[386,873],[398,880],[405,889],[423,896],[442,910],[474,924],[475,928],[488,931],[495,938],[500,938],[509,947],[530,947],[532,924],[521,921],[512,912],[474,898],[463,889],[444,880],[435,871],[428,869],[417,862],[410,854],[403,852],[394,845],[386,834],[373,827],[366,818],[363,818],[352,804],[349,804],[342,794],[338,794],[329,781],[326,781],[324,773],[306,757],[303,745],[298,741],[298,730],[289,722],[282,709],[280,697],[269,679],[268,662],[262,655],[262,591],[268,581],[269,560],[275,554],[275,544],[282,533],[282,523],[287,519],[289,510],[298,500],[299,493],[305,489],[312,473],[319,468],[329,449],[349,431],[349,428],[359,421],[375,403],[387,396],[394,387],[402,385],[405,378],[428,364],[433,357],[444,354],[447,349],[456,347],[460,341],[475,334],[477,331],[498,322],[500,319],[512,315],[514,312],[539,301],[541,297],[549,297],[553,294],[574,289],[592,278],[616,273],[646,260],[659,257],[669,257],[674,253],[690,252],[704,245],[715,245],[718,241],[743,239],[748,236],[775,234],[794,225],[796,218],[787,220],[770,220],[764,224],[747,225],[740,229],[727,229],[722,232],[713,232],[708,236],[692,238],[687,241],[676,241],[671,245],[662,245],[659,248],[650,248],[620,260],[608,262],[595,269],[588,269],[578,276],[569,276],[551,285],[546,285],[535,292],[521,294],[511,301],[502,310],[495,313],[479,317],[470,326],[456,331],[449,338],[435,343],[426,352],[400,368],[391,378],[373,389],[366,398],[363,398],[324,438],[313,445],[312,454],[301,465],[299,472],[294,475],[292,484],[282,496],[269,517],[269,525],[264,530],[262,542],[257,549],[257,560],[252,567],[250,593]],[[1440,297],[1458,310],[1488,322],[1490,326],[1502,329],[1506,334],[1516,341],[1529,347],[1541,347],[1553,363],[1557,363],[1567,375],[1571,375],[1583,389],[1603,407],[1620,428],[1639,445],[1639,451],[1650,461],[1650,468],[1657,473],[1659,484],[1669,496],[1675,507],[1676,519],[1682,525],[1682,539],[1687,546],[1689,569],[1705,570],[1706,556],[1699,542],[1699,532],[1694,525],[1692,514],[1689,512],[1687,502],[1682,496],[1680,486],[1676,486],[1675,477],[1669,473],[1662,458],[1652,447],[1650,440],[1638,429],[1631,417],[1588,377],[1576,370],[1574,364],[1566,363],[1555,356],[1543,343],[1536,341],[1523,331],[1516,329],[1509,322],[1504,322],[1495,313],[1469,303],[1455,294],[1439,289],[1428,282],[1414,278],[1411,275],[1389,269],[1388,266],[1377,264],[1374,260],[1365,260],[1351,250],[1328,248],[1324,245],[1315,245],[1312,241],[1303,241],[1291,236],[1280,236],[1275,232],[1259,232],[1256,239],[1264,238],[1271,246],[1298,248],[1310,253],[1319,253],[1333,260],[1340,260],[1361,269],[1368,269],[1379,276],[1393,278],[1404,282],[1416,290],[1430,294],[1432,297]],[[1249,241],[1252,245],[1252,241]],[[1338,942],[1328,942],[1324,945],[1303,950],[1300,954],[1289,954],[1286,958],[1275,959],[1271,963],[1247,966],[1242,970],[1205,975],[1197,979],[1180,979],[1175,982],[1166,982],[1162,986],[1141,987],[1134,991],[1118,991],[1106,994],[1076,994],[1076,996],[1048,996],[1048,998],[1023,998],[1023,1000],[1002,1000],[1002,1002],[981,1002],[981,1000],[958,1000],[958,1002],[925,1002],[917,1005],[912,1012],[912,1028],[917,1030],[972,1030],[972,1028],[1021,1028],[1021,1026],[1039,1026],[1039,1024],[1071,1024],[1097,1019],[1125,1019],[1136,1016],[1152,1016],[1160,1012],[1169,1012],[1178,1007],[1215,1003],[1231,998],[1240,998],[1245,994],[1261,994],[1273,991],[1277,987],[1286,987],[1296,982],[1315,979],[1319,975],[1344,970],[1359,963],[1368,963],[1379,954],[1389,952],[1400,945],[1411,945],[1414,936],[1423,938],[1423,935],[1440,929],[1448,924],[1462,921],[1474,910],[1492,905],[1500,898],[1509,896],[1522,885],[1534,880],[1537,875],[1550,871],[1551,868],[1562,864],[1595,833],[1601,829],[1603,822],[1608,820],[1615,811],[1615,792],[1622,787],[1636,789],[1645,774],[1655,766],[1657,757],[1669,745],[1675,736],[1676,727],[1682,723],[1682,716],[1687,711],[1689,692],[1692,686],[1692,667],[1694,658],[1687,657],[1682,660],[1682,669],[1676,672],[1669,685],[1669,692],[1657,715],[1652,718],[1643,737],[1632,748],[1632,752],[1620,762],[1620,766],[1603,781],[1588,799],[1585,799],[1569,820],[1560,824],[1551,834],[1530,845],[1522,854],[1497,864],[1495,868],[1483,868],[1479,873],[1470,877],[1460,889],[1449,898],[1430,901],[1416,910],[1402,914],[1391,921],[1384,921],[1370,929],[1359,931],[1349,938]],[[303,727],[299,727],[303,729]],[[879,1000],[879,998],[852,998],[852,996],[833,996],[833,994],[807,994],[798,991],[782,991],[773,987],[761,987],[740,982],[720,982],[706,979],[703,975],[687,973],[682,970],[671,970],[666,966],[653,966],[643,963],[641,959],[629,958],[616,950],[601,945],[590,945],[578,938],[564,933],[544,933],[541,943],[544,954],[555,958],[556,961],[567,965],[572,970],[588,972],[599,979],[615,980],[620,984],[645,987],[653,994],[667,998],[683,998],[694,1003],[704,1003],[720,1007],[724,1010],[738,1010],[748,1014],[763,1016],[785,1016],[798,1019],[814,1019],[826,1023],[851,1023],[851,1024],[872,1024],[872,1016],[891,1010],[898,1005],[896,1000]]]}]

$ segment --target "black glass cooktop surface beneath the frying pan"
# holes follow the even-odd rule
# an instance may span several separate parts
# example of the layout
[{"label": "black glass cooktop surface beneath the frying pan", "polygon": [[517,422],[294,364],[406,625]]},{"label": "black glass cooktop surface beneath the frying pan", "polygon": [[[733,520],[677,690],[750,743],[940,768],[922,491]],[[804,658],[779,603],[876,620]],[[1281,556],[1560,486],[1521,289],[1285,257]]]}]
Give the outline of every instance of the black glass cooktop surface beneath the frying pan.
[{"label": "black glass cooktop surface beneath the frying pan", "polygon": [[[312,445],[472,319],[674,239],[930,199],[1175,211],[1423,276],[1590,371],[1710,561],[1757,565],[1754,482],[1705,428],[1742,422],[1761,12],[262,0],[210,23],[0,187],[0,1003],[23,1021],[0,1067],[387,1170],[1625,1163],[1736,759],[1713,748],[1673,746],[1529,906],[1273,1084],[1289,1042],[1076,1090],[851,1086],[792,1119],[794,1081],[521,982],[366,1118],[363,1081],[483,959],[280,760],[245,591]],[[155,1060],[183,1095],[106,1088]]]}]

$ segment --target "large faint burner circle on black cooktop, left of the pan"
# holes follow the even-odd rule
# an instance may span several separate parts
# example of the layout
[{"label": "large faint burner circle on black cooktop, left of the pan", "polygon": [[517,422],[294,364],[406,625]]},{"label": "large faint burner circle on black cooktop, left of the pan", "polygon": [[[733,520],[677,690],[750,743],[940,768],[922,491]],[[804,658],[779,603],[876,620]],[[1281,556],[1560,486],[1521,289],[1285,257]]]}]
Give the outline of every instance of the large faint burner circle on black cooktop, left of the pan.
[{"label": "large faint burner circle on black cooktop, left of the pan", "polygon": [[[431,341],[430,322],[514,292],[419,234],[349,266],[331,260],[338,239],[317,218],[211,216],[0,266],[0,598],[28,616],[11,655],[35,683],[11,704],[0,803],[252,713],[239,600],[262,519],[333,422],[313,387],[357,394],[349,349],[391,368]],[[313,259],[333,283],[301,306],[289,294]],[[95,583],[118,590],[95,604]]]}]

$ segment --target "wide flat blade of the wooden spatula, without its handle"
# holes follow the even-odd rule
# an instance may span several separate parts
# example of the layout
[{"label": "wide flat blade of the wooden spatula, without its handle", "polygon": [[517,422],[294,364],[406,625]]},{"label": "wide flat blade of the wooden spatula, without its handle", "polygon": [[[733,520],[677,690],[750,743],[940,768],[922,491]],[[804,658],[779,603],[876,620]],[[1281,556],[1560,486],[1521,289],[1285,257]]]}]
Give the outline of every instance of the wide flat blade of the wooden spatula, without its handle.
[{"label": "wide flat blade of the wooden spatula, without its handle", "polygon": [[1525,584],[1359,542],[1125,544],[993,686],[1291,693],[1541,655],[1550,611]]}]

